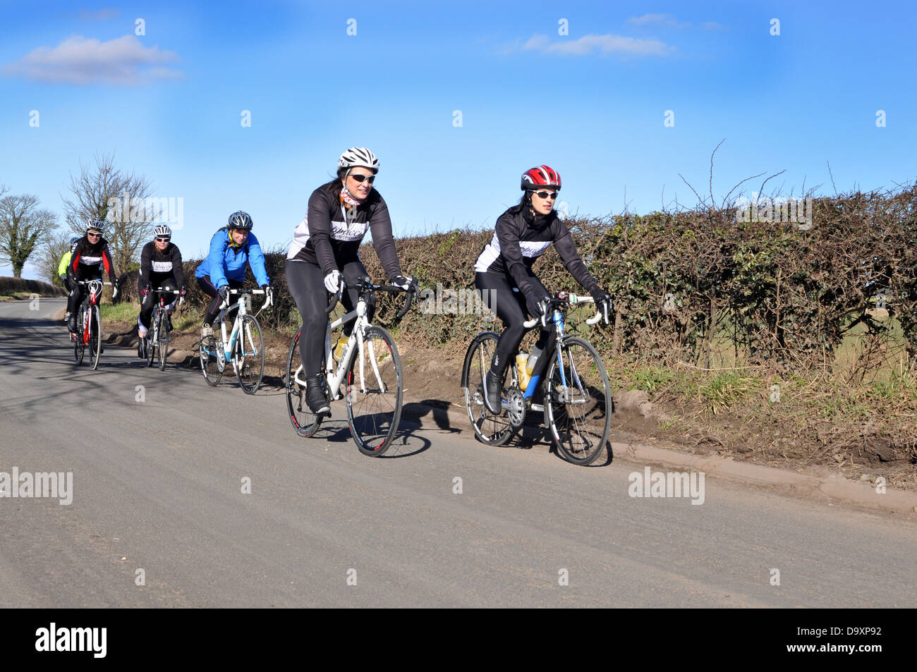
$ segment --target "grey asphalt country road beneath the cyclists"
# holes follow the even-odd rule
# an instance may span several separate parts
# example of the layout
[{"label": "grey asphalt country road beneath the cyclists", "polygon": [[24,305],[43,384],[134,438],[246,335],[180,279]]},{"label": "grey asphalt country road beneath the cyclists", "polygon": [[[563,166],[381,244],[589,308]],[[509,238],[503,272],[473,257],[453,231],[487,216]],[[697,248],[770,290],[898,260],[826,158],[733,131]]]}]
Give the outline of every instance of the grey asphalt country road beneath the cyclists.
[{"label": "grey asphalt country road beneath the cyclists", "polygon": [[73,479],[70,505],[0,498],[0,607],[917,606],[900,517],[715,479],[632,498],[640,466],[464,425],[364,457],[339,402],[303,439],[279,391],[113,346],[74,367],[61,307],[0,303],[0,472]]}]

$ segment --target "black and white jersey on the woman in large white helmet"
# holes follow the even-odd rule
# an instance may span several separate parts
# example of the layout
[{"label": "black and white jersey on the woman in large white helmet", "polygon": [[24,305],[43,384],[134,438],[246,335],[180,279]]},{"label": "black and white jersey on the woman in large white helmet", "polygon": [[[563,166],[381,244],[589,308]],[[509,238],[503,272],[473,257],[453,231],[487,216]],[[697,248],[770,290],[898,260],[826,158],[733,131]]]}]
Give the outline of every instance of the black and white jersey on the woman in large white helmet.
[{"label": "black and white jersey on the woman in large white helmet", "polygon": [[367,230],[372,231],[372,245],[389,278],[401,275],[392,219],[380,193],[373,189],[365,202],[348,209],[326,187],[319,187],[309,197],[305,219],[296,226],[287,259],[316,264],[326,274],[341,270],[348,261],[359,259]]}]

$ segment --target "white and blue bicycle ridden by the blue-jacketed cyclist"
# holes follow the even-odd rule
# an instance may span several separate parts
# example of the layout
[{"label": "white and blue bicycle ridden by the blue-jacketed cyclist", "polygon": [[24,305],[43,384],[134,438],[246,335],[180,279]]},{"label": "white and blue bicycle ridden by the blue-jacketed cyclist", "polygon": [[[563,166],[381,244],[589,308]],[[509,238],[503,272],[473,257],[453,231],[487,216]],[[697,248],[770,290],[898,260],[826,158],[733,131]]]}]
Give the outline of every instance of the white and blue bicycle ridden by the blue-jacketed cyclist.
[{"label": "white and blue bicycle ridden by the blue-jacketed cyclist", "polygon": [[[229,294],[238,294],[238,302],[230,305]],[[271,307],[273,294],[270,289],[229,290],[214,320],[214,336],[201,338],[201,370],[204,372],[204,380],[212,387],[223,377],[227,365],[232,365],[239,387],[246,394],[254,394],[261,385],[261,377],[264,375],[264,336],[261,335],[257,314],[249,314],[251,294],[265,294],[258,314]],[[236,319],[232,331],[226,336],[226,314],[234,310],[237,311]]]}]

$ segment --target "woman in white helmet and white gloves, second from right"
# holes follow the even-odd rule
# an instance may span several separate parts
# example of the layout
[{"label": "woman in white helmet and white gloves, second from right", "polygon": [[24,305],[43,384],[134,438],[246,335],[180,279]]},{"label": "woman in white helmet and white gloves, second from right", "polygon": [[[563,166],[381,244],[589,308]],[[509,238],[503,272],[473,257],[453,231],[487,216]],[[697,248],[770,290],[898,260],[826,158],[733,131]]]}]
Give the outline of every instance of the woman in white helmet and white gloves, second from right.
[{"label": "woman in white helmet and white gloves, second from right", "polygon": [[[367,229],[372,230],[372,244],[389,282],[416,292],[416,281],[405,278],[398,263],[389,208],[372,187],[378,172],[379,160],[365,147],[353,147],[341,154],[337,177],[309,197],[305,219],[296,226],[287,251],[287,285],[303,319],[300,358],[306,381],[305,401],[313,413],[331,412],[320,378],[327,325],[326,291],[337,292],[341,278],[345,285],[361,279],[369,281],[359,260],[360,241]],[[341,303],[351,311],[358,298],[358,292],[348,290]],[[366,301],[371,320],[375,296],[370,294]],[[346,336],[353,329],[352,324],[348,326]]]}]

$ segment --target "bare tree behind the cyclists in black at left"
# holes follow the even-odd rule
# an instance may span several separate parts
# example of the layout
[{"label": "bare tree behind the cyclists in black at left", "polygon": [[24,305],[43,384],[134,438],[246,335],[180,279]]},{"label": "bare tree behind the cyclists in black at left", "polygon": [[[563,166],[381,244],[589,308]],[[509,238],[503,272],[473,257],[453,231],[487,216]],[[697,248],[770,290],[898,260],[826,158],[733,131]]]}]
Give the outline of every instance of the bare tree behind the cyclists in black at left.
[{"label": "bare tree behind the cyclists in black at left", "polygon": [[96,154],[94,167],[80,162],[80,176],[70,176],[72,198],[63,199],[67,224],[74,233],[85,233],[90,217],[105,219],[105,239],[124,272],[137,259],[138,248],[150,236],[152,221],[144,202],[149,197],[147,178],[116,168],[115,154]]}]

